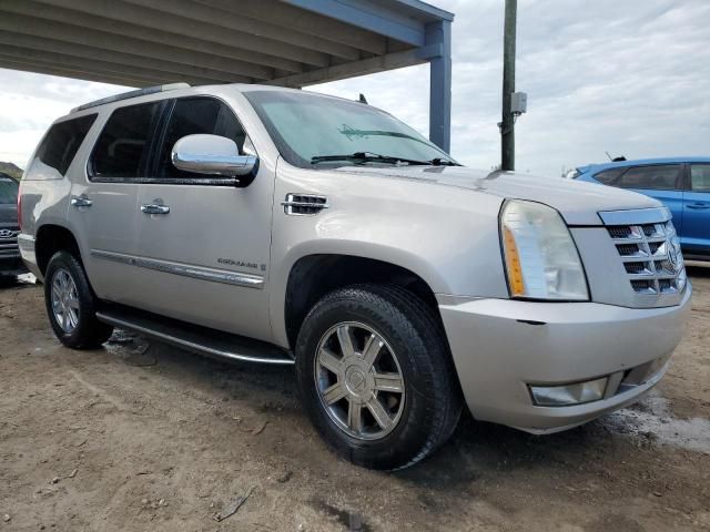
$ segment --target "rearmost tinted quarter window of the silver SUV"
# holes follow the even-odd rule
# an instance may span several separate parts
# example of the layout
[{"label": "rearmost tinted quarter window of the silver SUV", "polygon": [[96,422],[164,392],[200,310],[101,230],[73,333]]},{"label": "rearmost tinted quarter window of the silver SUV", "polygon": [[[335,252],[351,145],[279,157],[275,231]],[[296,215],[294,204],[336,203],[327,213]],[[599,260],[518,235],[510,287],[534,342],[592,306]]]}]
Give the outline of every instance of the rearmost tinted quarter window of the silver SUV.
[{"label": "rearmost tinted quarter window of the silver SUV", "polygon": [[97,115],[89,114],[52,125],[37,150],[37,157],[64,175],[94,120]]}]

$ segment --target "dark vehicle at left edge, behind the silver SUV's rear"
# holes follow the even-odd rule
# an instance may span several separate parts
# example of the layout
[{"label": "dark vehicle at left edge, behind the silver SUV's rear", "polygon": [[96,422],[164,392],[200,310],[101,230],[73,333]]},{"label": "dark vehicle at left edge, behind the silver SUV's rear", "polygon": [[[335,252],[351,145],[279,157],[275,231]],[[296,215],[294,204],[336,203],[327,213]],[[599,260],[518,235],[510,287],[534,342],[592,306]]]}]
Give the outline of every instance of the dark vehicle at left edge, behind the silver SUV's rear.
[{"label": "dark vehicle at left edge, behind the silver SUV's rear", "polygon": [[0,277],[26,274],[18,247],[18,182],[0,172]]}]

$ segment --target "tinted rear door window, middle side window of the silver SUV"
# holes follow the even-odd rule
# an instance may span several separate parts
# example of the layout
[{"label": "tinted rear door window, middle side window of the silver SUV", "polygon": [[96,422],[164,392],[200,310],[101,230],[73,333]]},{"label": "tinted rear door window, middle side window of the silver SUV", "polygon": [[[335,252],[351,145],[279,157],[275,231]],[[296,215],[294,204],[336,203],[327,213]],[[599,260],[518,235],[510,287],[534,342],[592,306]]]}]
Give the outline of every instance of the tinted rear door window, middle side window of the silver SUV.
[{"label": "tinted rear door window, middle side window of the silver SUV", "polygon": [[95,177],[140,177],[163,102],[116,109],[91,155]]}]

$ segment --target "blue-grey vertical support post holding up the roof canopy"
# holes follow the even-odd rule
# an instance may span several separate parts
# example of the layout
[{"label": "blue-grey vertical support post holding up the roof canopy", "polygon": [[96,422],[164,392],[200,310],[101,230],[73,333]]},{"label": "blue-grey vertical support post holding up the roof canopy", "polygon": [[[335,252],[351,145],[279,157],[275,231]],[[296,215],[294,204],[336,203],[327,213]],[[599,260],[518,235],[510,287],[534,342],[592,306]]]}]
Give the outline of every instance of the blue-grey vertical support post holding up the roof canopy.
[{"label": "blue-grey vertical support post holding up the roof canopy", "polygon": [[452,149],[452,22],[426,25],[426,44],[440,44],[442,53],[430,60],[429,140],[449,153]]}]

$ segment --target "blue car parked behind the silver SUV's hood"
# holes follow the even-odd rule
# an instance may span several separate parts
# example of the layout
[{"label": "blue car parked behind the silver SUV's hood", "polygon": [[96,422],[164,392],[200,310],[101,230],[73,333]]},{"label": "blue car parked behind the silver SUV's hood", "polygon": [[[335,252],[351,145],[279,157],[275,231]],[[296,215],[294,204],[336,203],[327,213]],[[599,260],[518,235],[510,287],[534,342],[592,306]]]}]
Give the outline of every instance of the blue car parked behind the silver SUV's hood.
[{"label": "blue car parked behind the silver SUV's hood", "polygon": [[629,188],[662,202],[673,215],[686,258],[710,260],[710,157],[590,164],[574,178]]}]

